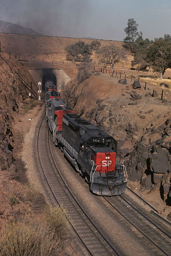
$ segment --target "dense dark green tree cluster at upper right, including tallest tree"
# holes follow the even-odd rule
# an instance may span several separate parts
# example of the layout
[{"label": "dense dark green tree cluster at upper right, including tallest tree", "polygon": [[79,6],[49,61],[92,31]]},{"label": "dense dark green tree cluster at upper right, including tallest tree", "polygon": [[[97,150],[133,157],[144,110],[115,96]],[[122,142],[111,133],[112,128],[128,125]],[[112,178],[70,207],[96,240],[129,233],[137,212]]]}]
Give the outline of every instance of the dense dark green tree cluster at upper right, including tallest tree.
[{"label": "dense dark green tree cluster at upper right, including tallest tree", "polygon": [[128,19],[127,27],[124,29],[127,36],[124,38],[124,48],[131,50],[134,56],[132,67],[137,70],[146,70],[147,68],[160,73],[163,78],[166,69],[171,68],[171,36],[165,34],[163,37],[154,38],[154,40],[145,40],[142,32],[137,32],[138,24],[133,18]]}]

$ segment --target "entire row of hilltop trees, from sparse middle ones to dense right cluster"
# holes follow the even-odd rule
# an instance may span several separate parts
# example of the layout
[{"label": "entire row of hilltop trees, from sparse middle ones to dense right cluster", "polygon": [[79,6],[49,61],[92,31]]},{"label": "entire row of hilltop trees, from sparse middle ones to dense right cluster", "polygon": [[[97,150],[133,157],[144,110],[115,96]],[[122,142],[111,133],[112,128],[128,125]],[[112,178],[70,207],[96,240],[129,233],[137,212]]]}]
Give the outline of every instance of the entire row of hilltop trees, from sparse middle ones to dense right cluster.
[{"label": "entire row of hilltop trees, from sparse middle ones to dense right cluster", "polygon": [[171,68],[171,36],[165,34],[164,37],[155,38],[154,41],[148,38],[144,40],[142,32],[138,32],[137,28],[136,21],[133,18],[128,19],[127,27],[124,29],[127,36],[124,38],[123,48],[114,45],[101,47],[98,40],[93,40],[91,44],[78,41],[66,46],[66,58],[73,62],[81,62],[78,79],[81,81],[89,77],[93,51],[97,55],[99,64],[104,68],[110,66],[113,72],[116,63],[127,60],[124,48],[130,50],[134,56],[132,67],[142,71],[151,68],[160,73],[162,79],[166,69]]}]

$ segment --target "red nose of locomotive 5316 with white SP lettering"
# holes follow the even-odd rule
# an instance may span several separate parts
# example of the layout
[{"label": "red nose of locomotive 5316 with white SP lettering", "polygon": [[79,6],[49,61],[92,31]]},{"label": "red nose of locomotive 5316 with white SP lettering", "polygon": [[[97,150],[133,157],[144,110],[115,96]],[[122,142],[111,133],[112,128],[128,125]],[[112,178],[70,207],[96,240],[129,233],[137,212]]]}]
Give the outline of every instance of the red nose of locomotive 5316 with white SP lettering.
[{"label": "red nose of locomotive 5316 with white SP lettering", "polygon": [[96,164],[96,172],[114,172],[116,153],[115,152],[97,152],[92,157],[92,160]]}]

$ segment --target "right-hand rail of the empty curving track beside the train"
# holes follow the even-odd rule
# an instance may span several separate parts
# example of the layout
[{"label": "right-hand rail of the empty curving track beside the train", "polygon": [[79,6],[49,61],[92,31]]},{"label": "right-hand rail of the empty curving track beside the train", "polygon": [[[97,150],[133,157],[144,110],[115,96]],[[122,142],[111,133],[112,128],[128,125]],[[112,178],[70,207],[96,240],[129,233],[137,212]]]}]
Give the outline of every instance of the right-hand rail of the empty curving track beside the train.
[{"label": "right-hand rail of the empty curving track beside the train", "polygon": [[[48,130],[49,132],[49,130]],[[49,137],[48,137],[48,143],[49,143]],[[71,197],[74,199],[75,203],[78,205],[78,207],[80,208],[80,210],[84,213],[84,215],[86,216],[86,218],[89,220],[89,222],[91,222],[92,226],[96,229],[96,231],[101,235],[101,237],[106,241],[106,243],[109,245],[109,247],[116,253],[116,255],[120,256],[120,254],[116,251],[116,249],[110,244],[110,242],[105,238],[105,236],[102,234],[102,232],[96,227],[96,225],[93,223],[93,221],[91,220],[91,218],[89,218],[89,216],[87,215],[87,213],[84,211],[84,209],[81,207],[81,205],[78,203],[78,201],[76,201],[74,195],[72,194],[72,192],[70,191],[70,189],[67,187],[65,181],[63,180],[60,172],[58,171],[58,168],[53,160],[53,157],[52,157],[52,152],[51,152],[51,149],[50,149],[50,145],[49,145],[49,150],[50,150],[50,154],[51,154],[51,158],[52,158],[52,161],[53,161],[53,164],[56,168],[56,171],[58,173],[58,175],[60,176],[61,178],[61,181],[63,182],[63,185],[65,186],[65,188],[67,189],[67,191],[69,192],[69,194],[71,195]]]}]

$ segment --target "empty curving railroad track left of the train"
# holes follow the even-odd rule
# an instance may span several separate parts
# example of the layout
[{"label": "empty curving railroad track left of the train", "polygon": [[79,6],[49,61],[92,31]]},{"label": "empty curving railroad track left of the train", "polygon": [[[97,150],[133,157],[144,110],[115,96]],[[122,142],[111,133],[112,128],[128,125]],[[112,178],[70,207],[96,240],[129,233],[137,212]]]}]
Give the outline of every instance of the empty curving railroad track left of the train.
[{"label": "empty curving railroad track left of the train", "polygon": [[74,195],[62,179],[52,158],[49,146],[49,128],[45,120],[45,115],[38,131],[37,150],[40,168],[54,201],[57,205],[67,208],[67,216],[70,216],[69,218],[67,217],[67,219],[70,226],[87,253],[93,256],[119,256],[119,253],[113,245],[110,244],[76,201]]}]

